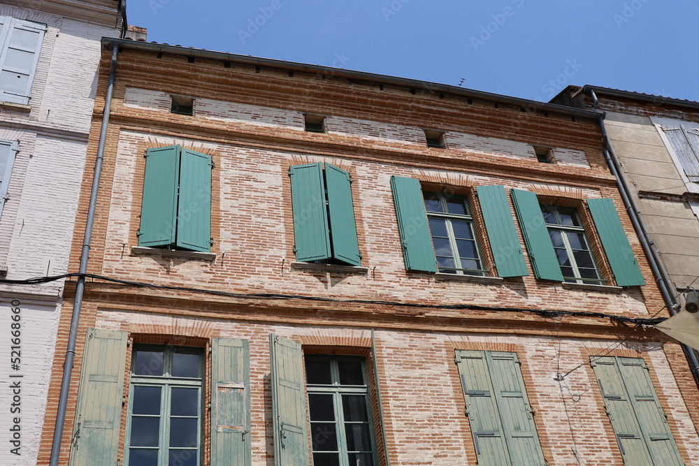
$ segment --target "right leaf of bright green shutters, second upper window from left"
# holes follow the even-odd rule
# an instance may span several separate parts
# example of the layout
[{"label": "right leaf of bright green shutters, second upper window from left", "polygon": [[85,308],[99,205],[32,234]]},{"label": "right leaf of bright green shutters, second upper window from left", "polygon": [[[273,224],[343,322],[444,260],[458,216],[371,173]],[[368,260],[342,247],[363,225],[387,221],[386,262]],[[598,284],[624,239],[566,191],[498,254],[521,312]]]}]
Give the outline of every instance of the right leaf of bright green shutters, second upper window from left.
[{"label": "right leaf of bright green shutters, second upper window from left", "polygon": [[333,257],[352,265],[361,265],[349,173],[326,163],[325,182],[328,191]]}]

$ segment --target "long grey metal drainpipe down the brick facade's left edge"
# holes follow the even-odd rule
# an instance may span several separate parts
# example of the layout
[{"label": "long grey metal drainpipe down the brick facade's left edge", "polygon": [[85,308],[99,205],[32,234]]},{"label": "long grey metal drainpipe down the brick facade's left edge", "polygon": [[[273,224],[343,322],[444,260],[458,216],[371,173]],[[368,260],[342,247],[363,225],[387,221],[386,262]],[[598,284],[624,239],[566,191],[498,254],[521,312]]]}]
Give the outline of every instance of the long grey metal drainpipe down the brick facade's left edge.
[{"label": "long grey metal drainpipe down the brick facade's left edge", "polygon": [[[85,225],[85,237],[82,242],[82,254],[80,254],[80,269],[78,273],[87,272],[87,259],[89,259],[90,240],[92,238],[92,226],[94,225],[94,210],[97,204],[97,191],[99,189],[99,177],[102,172],[102,160],[104,145],[107,138],[107,126],[109,124],[109,112],[112,105],[112,93],[114,91],[114,81],[117,71],[117,54],[119,47],[112,44],[112,61],[109,66],[109,84],[107,96],[104,101],[104,112],[102,115],[102,128],[99,134],[99,145],[94,164],[94,177],[92,178],[92,191],[89,195],[89,209],[87,210],[87,224]],[[50,466],[58,466],[61,454],[61,441],[63,428],[66,423],[66,407],[68,406],[68,393],[71,386],[71,372],[73,370],[73,359],[75,358],[75,339],[78,336],[78,321],[80,320],[80,308],[82,307],[82,293],[85,291],[85,276],[78,277],[78,284],[75,287],[75,303],[73,303],[73,316],[71,317],[71,331],[68,337],[68,348],[66,349],[66,361],[63,365],[63,381],[61,383],[61,395],[58,401],[58,413],[56,415],[56,427],[53,434],[53,444],[51,446]]]}]

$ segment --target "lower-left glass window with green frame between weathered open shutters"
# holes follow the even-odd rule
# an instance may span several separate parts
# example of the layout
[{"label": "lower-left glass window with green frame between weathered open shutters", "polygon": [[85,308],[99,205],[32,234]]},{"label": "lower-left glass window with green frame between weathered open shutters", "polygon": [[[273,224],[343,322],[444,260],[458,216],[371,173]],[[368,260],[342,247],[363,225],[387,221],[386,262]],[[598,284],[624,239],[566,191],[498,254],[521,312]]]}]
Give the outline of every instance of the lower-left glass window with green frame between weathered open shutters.
[{"label": "lower-left glass window with green frame between weathered open shutters", "polygon": [[202,352],[134,347],[131,361],[125,464],[200,465]]}]

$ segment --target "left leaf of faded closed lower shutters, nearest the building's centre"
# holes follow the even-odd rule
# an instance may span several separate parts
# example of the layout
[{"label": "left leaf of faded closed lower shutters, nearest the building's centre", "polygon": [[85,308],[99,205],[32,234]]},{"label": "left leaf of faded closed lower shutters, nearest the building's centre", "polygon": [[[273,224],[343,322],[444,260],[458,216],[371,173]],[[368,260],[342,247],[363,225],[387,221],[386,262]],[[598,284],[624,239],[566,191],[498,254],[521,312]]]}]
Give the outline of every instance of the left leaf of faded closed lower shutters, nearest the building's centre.
[{"label": "left leaf of faded closed lower shutters, nearest the building's centre", "polygon": [[456,350],[456,367],[478,464],[511,466],[484,351]]}]

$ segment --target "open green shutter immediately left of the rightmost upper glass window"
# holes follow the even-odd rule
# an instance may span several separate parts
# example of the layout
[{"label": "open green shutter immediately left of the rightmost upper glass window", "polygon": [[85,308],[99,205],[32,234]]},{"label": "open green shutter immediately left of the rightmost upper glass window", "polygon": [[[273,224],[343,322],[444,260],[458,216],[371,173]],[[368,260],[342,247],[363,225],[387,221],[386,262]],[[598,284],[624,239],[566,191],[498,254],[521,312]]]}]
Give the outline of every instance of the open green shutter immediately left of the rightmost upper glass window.
[{"label": "open green shutter immediately left of the rightmost upper glass window", "polygon": [[556,252],[536,194],[521,189],[510,189],[510,196],[534,275],[540,279],[563,282],[561,266],[556,259]]}]

